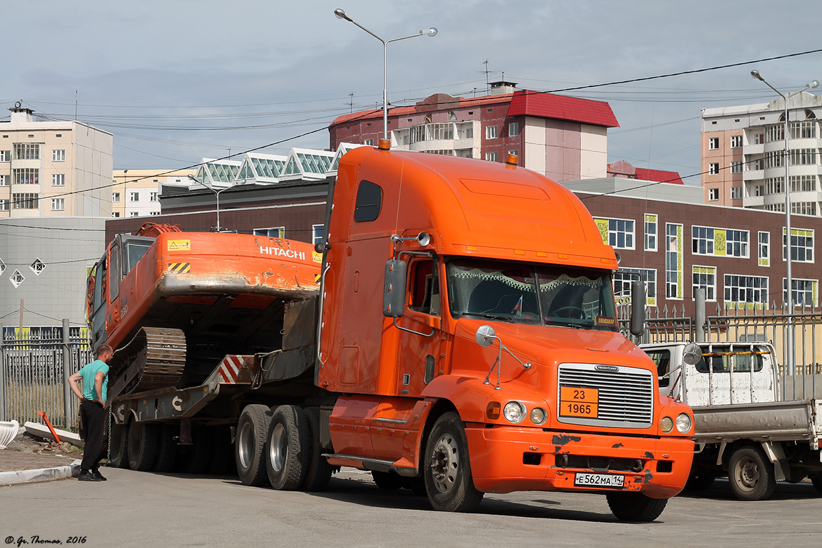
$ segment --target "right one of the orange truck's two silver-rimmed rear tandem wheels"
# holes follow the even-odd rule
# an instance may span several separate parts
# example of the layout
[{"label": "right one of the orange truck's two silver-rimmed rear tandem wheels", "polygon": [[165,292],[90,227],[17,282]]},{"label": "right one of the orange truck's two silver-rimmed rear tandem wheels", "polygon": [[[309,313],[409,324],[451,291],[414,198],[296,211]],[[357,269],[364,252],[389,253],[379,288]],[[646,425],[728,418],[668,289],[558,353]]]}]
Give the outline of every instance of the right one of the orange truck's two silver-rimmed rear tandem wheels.
[{"label": "right one of the orange truck's two silver-rimmed rear tandem wheels", "polygon": [[266,472],[276,490],[302,486],[311,450],[308,435],[308,419],[302,408],[281,405],[275,409],[268,428]]}]

